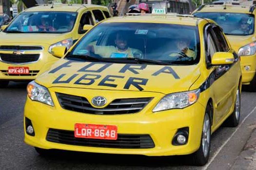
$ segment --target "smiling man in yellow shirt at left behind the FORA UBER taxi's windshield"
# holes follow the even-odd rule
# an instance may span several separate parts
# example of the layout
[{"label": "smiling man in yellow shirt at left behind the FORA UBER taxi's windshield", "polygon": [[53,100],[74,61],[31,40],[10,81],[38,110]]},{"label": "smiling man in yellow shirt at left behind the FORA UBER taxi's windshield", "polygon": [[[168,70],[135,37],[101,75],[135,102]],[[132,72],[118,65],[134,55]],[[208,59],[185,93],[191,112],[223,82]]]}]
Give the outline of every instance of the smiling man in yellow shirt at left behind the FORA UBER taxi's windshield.
[{"label": "smiling man in yellow shirt at left behind the FORA UBER taxi's windshield", "polygon": [[93,45],[90,51],[104,58],[142,58],[142,52],[130,48],[127,44],[127,33],[119,31],[115,39],[116,46]]}]

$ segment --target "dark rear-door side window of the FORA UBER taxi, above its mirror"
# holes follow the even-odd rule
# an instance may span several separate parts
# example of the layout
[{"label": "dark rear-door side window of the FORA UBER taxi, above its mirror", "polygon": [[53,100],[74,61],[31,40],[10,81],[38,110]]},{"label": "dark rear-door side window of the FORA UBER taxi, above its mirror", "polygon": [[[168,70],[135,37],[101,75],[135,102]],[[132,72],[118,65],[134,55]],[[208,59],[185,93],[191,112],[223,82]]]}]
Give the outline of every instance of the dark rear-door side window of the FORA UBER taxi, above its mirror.
[{"label": "dark rear-door side window of the FORA UBER taxi, above its mirror", "polygon": [[227,43],[222,31],[220,30],[220,28],[217,26],[213,26],[213,31],[216,35],[216,40],[217,40],[217,44],[219,47],[219,51],[220,52],[228,51],[229,50],[228,43]]}]

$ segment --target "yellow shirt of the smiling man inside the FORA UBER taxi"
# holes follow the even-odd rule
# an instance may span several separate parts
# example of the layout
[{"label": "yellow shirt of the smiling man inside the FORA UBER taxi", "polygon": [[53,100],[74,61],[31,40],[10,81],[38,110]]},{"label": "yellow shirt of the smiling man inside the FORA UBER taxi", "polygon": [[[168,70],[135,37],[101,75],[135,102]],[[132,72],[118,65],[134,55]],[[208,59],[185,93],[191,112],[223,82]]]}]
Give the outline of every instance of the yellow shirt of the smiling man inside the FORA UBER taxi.
[{"label": "yellow shirt of the smiling man inside the FORA UBER taxi", "polygon": [[137,49],[128,48],[126,51],[119,51],[115,46],[96,46],[94,53],[103,58],[142,58],[143,54]]}]

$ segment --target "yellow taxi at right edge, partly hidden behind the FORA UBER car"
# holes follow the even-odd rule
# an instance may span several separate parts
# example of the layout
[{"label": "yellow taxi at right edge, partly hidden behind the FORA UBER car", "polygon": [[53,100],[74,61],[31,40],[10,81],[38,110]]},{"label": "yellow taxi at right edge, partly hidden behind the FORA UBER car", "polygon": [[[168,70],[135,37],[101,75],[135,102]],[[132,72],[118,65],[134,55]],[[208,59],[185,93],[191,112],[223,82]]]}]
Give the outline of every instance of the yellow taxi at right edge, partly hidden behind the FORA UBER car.
[{"label": "yellow taxi at right edge, partly hidden behind the FORA UBER car", "polygon": [[227,35],[232,48],[241,58],[242,83],[256,91],[256,6],[202,5],[193,15],[217,22]]}]

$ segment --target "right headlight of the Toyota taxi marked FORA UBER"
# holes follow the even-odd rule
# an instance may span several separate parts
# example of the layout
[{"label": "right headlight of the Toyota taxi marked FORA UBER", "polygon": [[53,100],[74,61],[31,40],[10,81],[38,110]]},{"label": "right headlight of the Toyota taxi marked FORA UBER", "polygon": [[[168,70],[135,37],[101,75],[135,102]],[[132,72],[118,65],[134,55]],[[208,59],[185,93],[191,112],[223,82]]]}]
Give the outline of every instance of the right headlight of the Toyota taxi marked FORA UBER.
[{"label": "right headlight of the Toyota taxi marked FORA UBER", "polygon": [[158,102],[157,106],[153,109],[153,112],[168,109],[182,109],[197,102],[199,94],[200,89],[168,94]]}]

